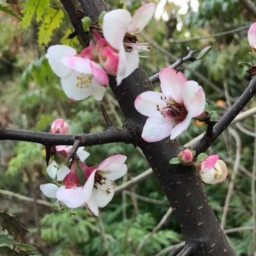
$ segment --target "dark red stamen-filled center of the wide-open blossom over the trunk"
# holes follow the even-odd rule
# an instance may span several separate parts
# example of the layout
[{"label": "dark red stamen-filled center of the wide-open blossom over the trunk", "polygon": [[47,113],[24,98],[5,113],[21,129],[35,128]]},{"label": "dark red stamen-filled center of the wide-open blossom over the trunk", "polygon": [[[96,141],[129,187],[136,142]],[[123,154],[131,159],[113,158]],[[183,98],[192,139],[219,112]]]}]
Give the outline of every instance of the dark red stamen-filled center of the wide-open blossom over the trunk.
[{"label": "dark red stamen-filled center of the wide-open blossom over the trunk", "polygon": [[[161,98],[162,99],[162,98]],[[182,122],[188,115],[188,110],[183,103],[177,103],[174,100],[164,98],[166,106],[160,108],[157,105],[157,110],[164,116],[172,118],[176,123]]]}]

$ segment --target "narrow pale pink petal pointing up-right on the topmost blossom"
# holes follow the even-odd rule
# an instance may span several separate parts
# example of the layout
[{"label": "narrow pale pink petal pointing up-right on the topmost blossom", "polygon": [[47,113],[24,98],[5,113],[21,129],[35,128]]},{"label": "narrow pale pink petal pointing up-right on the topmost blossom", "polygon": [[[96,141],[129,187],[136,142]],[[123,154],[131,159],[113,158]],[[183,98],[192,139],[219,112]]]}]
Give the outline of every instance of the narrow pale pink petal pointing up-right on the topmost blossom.
[{"label": "narrow pale pink petal pointing up-right on the topmost blossom", "polygon": [[156,11],[156,4],[148,3],[139,7],[131,20],[131,25],[128,29],[131,33],[138,33],[148,24]]}]

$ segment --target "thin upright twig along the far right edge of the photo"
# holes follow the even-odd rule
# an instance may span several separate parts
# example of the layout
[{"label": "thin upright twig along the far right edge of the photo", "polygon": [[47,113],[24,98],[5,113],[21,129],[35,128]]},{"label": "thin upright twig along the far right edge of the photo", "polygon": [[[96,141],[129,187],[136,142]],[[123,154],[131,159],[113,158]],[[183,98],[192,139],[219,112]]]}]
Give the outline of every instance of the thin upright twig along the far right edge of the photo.
[{"label": "thin upright twig along the far right edge of the photo", "polygon": [[[256,117],[254,115],[254,133],[256,134]],[[253,152],[253,165],[252,165],[252,241],[256,239],[256,192],[255,192],[255,178],[256,178],[256,137],[254,138],[254,152]]]}]

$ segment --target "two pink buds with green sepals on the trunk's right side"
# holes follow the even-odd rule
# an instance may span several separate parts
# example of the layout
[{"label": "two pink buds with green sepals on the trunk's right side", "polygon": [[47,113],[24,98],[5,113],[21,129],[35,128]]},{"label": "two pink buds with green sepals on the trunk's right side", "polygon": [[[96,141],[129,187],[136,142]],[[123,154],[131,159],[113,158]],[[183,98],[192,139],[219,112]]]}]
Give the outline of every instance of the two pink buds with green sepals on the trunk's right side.
[{"label": "two pink buds with green sepals on the trunk's right side", "polygon": [[216,184],[223,182],[227,175],[228,169],[226,164],[219,159],[218,154],[208,156],[201,153],[195,159],[195,150],[185,149],[177,157],[170,160],[170,164],[182,164],[195,166],[196,173],[201,181],[207,184]]}]

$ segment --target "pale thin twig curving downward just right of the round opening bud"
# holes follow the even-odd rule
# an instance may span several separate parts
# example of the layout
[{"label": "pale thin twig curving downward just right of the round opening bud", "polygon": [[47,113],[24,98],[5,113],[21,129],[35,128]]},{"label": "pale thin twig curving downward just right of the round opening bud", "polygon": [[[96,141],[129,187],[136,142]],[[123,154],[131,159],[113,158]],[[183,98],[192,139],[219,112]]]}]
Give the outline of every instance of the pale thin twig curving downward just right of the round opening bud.
[{"label": "pale thin twig curving downward just right of the round opening bud", "polygon": [[240,159],[241,159],[241,139],[235,130],[229,128],[228,131],[235,138],[235,141],[236,141],[236,160],[235,160],[235,164],[234,164],[234,168],[233,168],[233,173],[231,175],[231,180],[230,180],[229,187],[228,187],[228,193],[226,196],[223,214],[222,214],[222,218],[221,218],[221,227],[222,228],[225,227],[227,213],[228,213],[228,207],[229,207],[229,201],[230,201],[233,189],[234,189],[234,182],[236,179],[236,175],[238,173],[238,167],[239,167]]}]

